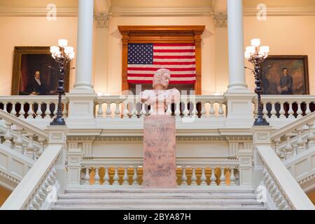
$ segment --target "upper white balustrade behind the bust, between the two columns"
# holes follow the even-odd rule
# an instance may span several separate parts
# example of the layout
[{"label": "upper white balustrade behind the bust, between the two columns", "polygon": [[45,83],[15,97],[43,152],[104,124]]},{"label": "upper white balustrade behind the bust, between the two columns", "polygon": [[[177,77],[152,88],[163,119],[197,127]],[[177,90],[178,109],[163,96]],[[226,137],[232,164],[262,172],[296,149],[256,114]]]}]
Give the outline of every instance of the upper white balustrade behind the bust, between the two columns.
[{"label": "upper white balustrade behind the bust, between the two columns", "polygon": [[[141,118],[153,113],[153,107],[142,104],[139,96],[98,97],[97,118]],[[182,95],[180,102],[167,104],[167,115],[176,117],[224,118],[225,99],[223,96]]]}]

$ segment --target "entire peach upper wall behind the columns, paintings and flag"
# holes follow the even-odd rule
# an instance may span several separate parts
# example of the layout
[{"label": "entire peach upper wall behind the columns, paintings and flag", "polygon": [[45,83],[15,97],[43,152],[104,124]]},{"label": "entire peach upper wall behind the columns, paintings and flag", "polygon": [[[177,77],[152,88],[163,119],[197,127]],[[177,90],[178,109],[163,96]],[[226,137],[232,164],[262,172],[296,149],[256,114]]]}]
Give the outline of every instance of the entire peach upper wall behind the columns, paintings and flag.
[{"label": "entire peach upper wall behind the columns, paintings and flag", "polygon": [[[228,31],[214,29],[211,17],[113,17],[108,29],[94,31],[94,88],[118,94],[121,89],[121,35],[118,25],[205,25],[202,35],[202,93],[224,92],[228,86]],[[14,46],[55,45],[58,38],[68,38],[76,47],[77,18],[0,17],[0,95],[10,94]],[[309,84],[315,94],[314,17],[268,17],[258,21],[244,18],[244,41],[259,37],[270,46],[271,55],[308,55]],[[248,65],[248,64],[247,64]],[[75,66],[75,59],[73,61]],[[70,88],[75,71],[71,70]],[[246,71],[246,83],[253,90],[253,75]]]}]

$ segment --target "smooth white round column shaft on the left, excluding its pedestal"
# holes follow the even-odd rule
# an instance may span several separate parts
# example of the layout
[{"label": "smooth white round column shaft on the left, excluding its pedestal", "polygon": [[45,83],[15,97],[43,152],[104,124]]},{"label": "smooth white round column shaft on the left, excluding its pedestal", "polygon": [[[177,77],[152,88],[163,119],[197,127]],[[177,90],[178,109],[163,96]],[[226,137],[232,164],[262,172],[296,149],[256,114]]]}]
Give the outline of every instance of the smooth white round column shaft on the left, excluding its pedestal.
[{"label": "smooth white round column shaft on the left, excluding its pedestal", "polygon": [[92,86],[93,0],[78,1],[76,84],[73,92],[94,92]]}]

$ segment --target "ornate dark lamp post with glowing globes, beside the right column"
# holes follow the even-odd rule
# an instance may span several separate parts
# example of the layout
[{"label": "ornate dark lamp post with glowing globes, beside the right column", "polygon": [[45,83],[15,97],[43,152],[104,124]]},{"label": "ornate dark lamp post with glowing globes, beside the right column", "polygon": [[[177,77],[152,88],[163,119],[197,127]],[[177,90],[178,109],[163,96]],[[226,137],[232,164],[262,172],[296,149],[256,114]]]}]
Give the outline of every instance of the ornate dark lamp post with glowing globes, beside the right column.
[{"label": "ornate dark lamp post with glowing globes, beside the right column", "polygon": [[254,69],[251,69],[255,76],[255,93],[258,95],[258,112],[257,118],[255,118],[254,125],[269,125],[267,120],[263,117],[262,114],[262,103],[261,103],[261,64],[268,56],[269,47],[260,46],[260,39],[254,38],[251,40],[251,46],[246,47],[245,57],[248,59],[248,62],[253,64]]}]

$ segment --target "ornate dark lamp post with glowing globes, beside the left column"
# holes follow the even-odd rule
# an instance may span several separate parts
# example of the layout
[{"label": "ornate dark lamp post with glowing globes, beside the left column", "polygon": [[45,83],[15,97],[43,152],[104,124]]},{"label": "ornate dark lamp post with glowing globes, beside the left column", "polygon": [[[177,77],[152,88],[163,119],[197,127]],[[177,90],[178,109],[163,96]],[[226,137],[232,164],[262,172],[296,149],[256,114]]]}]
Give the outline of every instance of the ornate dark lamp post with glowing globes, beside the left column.
[{"label": "ornate dark lamp post with glowing globes, beside the left column", "polygon": [[59,46],[51,46],[50,52],[52,57],[55,59],[55,62],[58,64],[58,105],[57,105],[57,113],[56,117],[50,125],[66,125],[64,122],[64,118],[62,118],[62,94],[64,94],[64,76],[65,76],[65,67],[71,59],[74,57],[73,47],[69,47],[68,41],[65,39],[58,40]]}]

